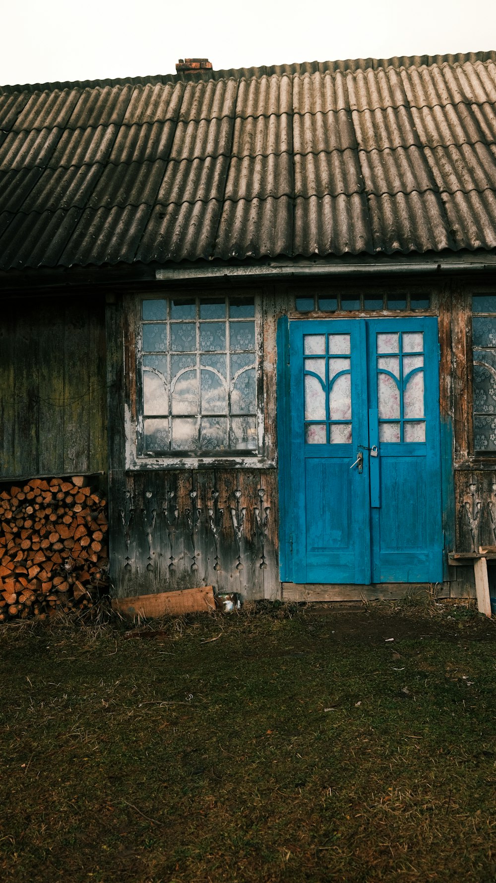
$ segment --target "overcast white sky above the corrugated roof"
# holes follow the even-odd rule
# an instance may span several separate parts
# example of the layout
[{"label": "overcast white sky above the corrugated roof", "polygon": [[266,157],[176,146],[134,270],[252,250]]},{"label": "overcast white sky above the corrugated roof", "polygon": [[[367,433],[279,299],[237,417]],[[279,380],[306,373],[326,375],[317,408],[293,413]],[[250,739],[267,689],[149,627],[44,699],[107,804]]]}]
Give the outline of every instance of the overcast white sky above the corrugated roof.
[{"label": "overcast white sky above the corrugated roof", "polygon": [[496,0],[23,0],[2,12],[0,83],[496,49]]}]

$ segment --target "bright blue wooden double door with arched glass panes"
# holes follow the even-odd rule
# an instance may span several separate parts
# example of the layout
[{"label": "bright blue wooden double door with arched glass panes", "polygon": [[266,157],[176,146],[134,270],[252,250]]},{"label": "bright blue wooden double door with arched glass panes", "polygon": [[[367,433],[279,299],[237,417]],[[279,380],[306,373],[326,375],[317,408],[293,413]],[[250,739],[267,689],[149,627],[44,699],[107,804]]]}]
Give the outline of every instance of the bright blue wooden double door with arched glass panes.
[{"label": "bright blue wooden double door with arched glass panes", "polygon": [[280,394],[282,579],[442,579],[434,318],[291,321]]}]

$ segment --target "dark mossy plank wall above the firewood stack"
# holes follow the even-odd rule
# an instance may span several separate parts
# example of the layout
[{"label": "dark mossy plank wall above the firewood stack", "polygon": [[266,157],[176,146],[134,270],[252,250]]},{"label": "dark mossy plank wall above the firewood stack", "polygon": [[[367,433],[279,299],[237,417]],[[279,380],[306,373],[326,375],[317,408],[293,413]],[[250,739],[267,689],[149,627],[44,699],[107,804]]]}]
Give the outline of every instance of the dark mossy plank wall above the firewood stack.
[{"label": "dark mossy plank wall above the firewood stack", "polygon": [[0,390],[0,478],[105,472],[101,297],[4,299]]}]

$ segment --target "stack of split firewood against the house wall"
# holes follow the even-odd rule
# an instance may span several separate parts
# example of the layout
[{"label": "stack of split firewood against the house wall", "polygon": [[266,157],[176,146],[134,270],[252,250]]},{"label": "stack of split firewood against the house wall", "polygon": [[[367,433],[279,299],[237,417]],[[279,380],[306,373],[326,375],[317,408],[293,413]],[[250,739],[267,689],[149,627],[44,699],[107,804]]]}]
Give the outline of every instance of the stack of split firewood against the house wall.
[{"label": "stack of split firewood against the house wall", "polygon": [[0,622],[93,607],[108,584],[105,507],[81,476],[0,493]]}]

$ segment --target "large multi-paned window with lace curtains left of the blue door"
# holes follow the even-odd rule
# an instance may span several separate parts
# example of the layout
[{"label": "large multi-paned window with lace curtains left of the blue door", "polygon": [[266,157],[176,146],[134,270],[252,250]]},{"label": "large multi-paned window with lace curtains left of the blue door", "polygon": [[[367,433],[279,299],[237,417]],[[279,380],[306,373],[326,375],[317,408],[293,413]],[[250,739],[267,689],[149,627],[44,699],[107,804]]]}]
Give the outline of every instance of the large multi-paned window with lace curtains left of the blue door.
[{"label": "large multi-paned window with lace curtains left of the blue door", "polygon": [[142,456],[258,452],[253,297],[143,298],[138,358]]}]

